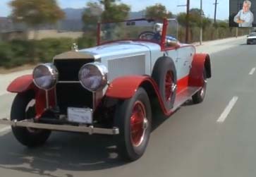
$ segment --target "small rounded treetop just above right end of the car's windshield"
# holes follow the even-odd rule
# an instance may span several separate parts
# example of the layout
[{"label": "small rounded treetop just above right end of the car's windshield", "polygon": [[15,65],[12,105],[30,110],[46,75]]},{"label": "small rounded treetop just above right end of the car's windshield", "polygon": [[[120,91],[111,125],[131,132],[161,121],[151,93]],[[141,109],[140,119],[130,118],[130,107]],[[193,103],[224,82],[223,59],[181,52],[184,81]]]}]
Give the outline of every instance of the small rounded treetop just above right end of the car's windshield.
[{"label": "small rounded treetop just above right end of the car's windshield", "polygon": [[145,13],[146,18],[172,18],[173,14],[166,10],[166,6],[162,4],[155,4],[154,6],[148,6]]}]

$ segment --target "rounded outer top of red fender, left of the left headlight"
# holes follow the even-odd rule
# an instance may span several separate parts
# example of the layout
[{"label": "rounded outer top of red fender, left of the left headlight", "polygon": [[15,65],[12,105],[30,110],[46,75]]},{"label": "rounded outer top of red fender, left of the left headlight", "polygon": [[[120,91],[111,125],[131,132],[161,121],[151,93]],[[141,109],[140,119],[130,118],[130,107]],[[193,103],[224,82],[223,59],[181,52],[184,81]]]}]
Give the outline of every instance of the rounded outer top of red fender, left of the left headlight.
[{"label": "rounded outer top of red fender, left of the left headlight", "polygon": [[7,91],[12,93],[22,93],[32,89],[35,89],[32,75],[20,76],[13,80],[13,82],[11,82],[7,87]]}]

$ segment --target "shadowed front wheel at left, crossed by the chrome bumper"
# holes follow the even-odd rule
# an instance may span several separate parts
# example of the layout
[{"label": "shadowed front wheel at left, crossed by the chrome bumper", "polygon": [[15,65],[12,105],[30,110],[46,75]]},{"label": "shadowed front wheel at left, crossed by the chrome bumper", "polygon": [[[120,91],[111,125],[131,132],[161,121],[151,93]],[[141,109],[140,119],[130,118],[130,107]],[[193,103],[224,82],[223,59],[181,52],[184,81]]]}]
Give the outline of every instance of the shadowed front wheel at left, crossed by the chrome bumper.
[{"label": "shadowed front wheel at left, crossed by the chrome bumper", "polygon": [[[35,94],[33,92],[18,93],[11,106],[11,121],[23,121],[35,117]],[[50,130],[12,127],[16,139],[28,147],[37,147],[47,141]]]}]

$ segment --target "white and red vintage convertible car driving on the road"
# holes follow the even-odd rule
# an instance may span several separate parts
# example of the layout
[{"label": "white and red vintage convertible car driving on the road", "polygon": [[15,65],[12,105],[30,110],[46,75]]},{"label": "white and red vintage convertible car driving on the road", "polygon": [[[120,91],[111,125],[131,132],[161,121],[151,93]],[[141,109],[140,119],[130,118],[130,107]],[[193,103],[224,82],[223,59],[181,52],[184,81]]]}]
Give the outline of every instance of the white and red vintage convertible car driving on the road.
[{"label": "white and red vintage convertible car driving on the road", "polygon": [[[172,19],[99,23],[97,46],[73,47],[13,80],[13,134],[23,145],[47,141],[51,130],[114,136],[125,159],[142,156],[150,139],[152,102],[170,116],[188,99],[205,98],[208,54],[181,44]],[[154,116],[157,118],[157,116]]]}]

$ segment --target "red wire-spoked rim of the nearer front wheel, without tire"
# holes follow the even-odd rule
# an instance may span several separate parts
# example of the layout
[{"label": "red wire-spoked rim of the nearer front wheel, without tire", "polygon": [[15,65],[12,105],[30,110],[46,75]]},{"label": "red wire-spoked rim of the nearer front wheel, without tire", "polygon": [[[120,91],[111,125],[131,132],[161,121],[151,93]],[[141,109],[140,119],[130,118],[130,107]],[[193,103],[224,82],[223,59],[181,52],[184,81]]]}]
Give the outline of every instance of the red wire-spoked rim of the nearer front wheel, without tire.
[{"label": "red wire-spoked rim of the nearer front wheel, without tire", "polygon": [[133,112],[130,116],[130,138],[134,147],[138,147],[144,140],[147,129],[147,118],[145,106],[142,102],[135,102]]}]

